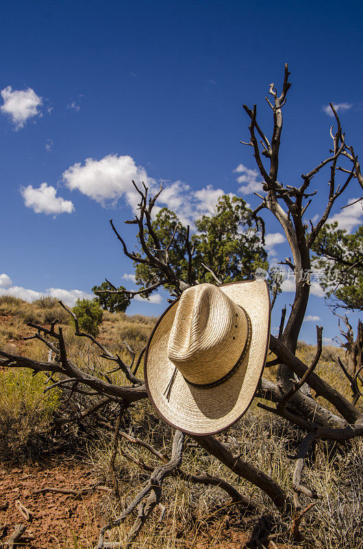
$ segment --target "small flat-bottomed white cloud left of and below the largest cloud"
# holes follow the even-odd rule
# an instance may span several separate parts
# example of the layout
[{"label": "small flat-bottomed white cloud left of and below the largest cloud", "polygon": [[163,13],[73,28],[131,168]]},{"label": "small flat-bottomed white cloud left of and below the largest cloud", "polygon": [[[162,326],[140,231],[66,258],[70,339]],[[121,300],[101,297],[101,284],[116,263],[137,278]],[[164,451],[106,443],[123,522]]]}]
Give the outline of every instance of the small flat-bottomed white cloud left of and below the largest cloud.
[{"label": "small flat-bottomed white cloud left of and below the largest cloud", "polygon": [[21,188],[25,206],[32,208],[36,213],[72,213],[73,202],[55,196],[56,194],[57,190],[47,183],[42,183],[38,189],[34,189],[32,185]]}]

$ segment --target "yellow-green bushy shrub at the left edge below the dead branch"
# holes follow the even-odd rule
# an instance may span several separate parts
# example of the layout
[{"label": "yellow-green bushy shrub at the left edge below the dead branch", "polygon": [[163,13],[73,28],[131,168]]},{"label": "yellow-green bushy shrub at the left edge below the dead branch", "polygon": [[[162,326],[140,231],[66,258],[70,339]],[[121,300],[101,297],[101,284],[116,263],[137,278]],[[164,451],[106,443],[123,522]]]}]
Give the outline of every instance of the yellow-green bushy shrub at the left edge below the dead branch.
[{"label": "yellow-green bushy shrub at the left edge below the dead branch", "polygon": [[0,458],[35,458],[42,447],[42,431],[60,404],[57,390],[43,393],[44,375],[27,369],[0,376]]}]

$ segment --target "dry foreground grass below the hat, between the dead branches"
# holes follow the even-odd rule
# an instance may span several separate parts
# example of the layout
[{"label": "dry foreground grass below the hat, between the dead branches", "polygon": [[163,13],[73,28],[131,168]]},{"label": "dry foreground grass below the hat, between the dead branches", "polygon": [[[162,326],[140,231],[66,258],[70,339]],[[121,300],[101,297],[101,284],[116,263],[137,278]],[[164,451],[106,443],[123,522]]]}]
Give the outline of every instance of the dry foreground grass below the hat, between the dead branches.
[{"label": "dry foreground grass below the hat, between the dead branches", "polygon": [[[171,453],[171,430],[155,416],[149,404],[138,405],[138,421],[132,425],[136,435],[154,444],[168,455]],[[234,428],[220,437],[233,452],[253,463],[262,471],[271,475],[281,487],[292,493],[292,473],[295,462],[288,456],[295,454],[301,440],[301,433],[284,421],[270,416],[253,417],[249,414]],[[91,445],[89,455],[92,467],[103,482],[110,480],[110,457],[112,437],[103,435],[97,445]],[[141,458],[148,465],[160,465],[147,450],[121,442],[121,448],[134,457]],[[314,487],[323,499],[303,519],[301,532],[304,541],[301,544],[290,539],[288,522],[281,522],[273,505],[258,489],[243,479],[238,479],[227,467],[215,458],[195,447],[186,439],[186,449],[182,469],[190,473],[204,471],[225,478],[238,490],[264,503],[270,517],[271,530],[266,534],[275,534],[275,543],[290,544],[288,547],[309,547],[322,549],[362,549],[363,548],[363,443],[353,441],[346,447],[337,447],[331,443],[318,442],[310,463],[303,471],[303,483]],[[109,500],[105,504],[105,514],[116,518],[140,491],[148,474],[118,453],[116,469],[120,479],[121,502]],[[301,497],[302,504],[310,500]],[[134,548],[195,548],[197,542],[205,540],[205,548],[234,547],[228,542],[238,539],[240,547],[251,537],[253,527],[258,521],[256,515],[245,515],[228,504],[228,496],[216,487],[186,484],[176,478],[168,479],[163,489],[162,503],[166,505],[163,522],[158,522],[158,510],[142,530],[134,543]],[[113,530],[110,541],[124,539],[134,517]],[[219,545],[221,544],[221,545]],[[284,547],[287,547],[284,545]]]}]

